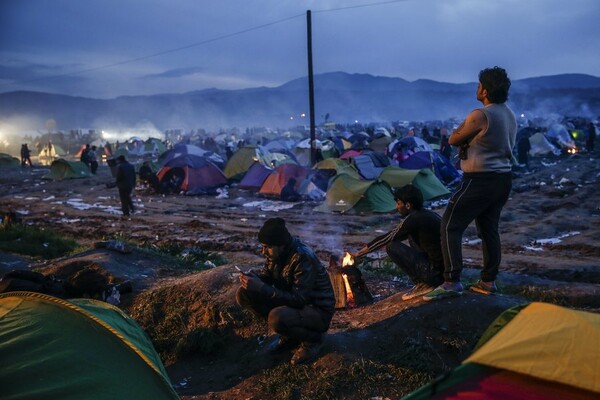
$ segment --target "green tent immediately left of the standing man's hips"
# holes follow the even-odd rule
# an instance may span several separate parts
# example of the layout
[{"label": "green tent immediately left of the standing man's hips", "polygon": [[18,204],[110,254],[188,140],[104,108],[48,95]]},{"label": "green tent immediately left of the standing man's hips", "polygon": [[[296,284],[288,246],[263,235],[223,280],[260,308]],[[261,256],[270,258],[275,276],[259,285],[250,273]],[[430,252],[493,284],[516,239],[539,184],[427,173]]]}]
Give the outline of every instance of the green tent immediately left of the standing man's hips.
[{"label": "green tent immediately left of the standing man's hips", "polygon": [[435,176],[435,173],[428,168],[415,170],[390,166],[384,168],[379,179],[387,182],[392,188],[413,184],[421,189],[424,200],[431,200],[450,193],[448,188]]}]

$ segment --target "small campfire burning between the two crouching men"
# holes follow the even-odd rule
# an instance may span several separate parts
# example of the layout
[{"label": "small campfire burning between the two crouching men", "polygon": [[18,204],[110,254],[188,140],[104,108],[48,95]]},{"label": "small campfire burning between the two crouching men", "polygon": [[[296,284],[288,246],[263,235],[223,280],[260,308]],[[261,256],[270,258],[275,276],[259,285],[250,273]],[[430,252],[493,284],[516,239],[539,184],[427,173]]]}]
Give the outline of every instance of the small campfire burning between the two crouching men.
[{"label": "small campfire burning between the two crouching men", "polygon": [[354,265],[350,253],[345,254],[341,266],[339,258],[332,255],[328,269],[335,294],[335,308],[353,308],[373,302],[362,273]]}]

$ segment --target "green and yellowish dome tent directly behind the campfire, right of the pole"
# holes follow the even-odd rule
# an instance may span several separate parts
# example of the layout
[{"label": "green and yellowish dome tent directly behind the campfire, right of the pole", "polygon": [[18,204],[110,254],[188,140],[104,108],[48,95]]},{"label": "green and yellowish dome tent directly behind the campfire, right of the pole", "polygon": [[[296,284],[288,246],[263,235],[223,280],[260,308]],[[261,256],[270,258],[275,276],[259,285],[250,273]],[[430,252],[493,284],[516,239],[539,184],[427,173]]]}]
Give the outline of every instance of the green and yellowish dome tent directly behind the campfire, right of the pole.
[{"label": "green and yellowish dome tent directly behind the campfire, right of the pole", "polygon": [[340,174],[331,179],[325,201],[315,211],[385,213],[395,209],[396,201],[387,183],[363,181],[348,174]]}]

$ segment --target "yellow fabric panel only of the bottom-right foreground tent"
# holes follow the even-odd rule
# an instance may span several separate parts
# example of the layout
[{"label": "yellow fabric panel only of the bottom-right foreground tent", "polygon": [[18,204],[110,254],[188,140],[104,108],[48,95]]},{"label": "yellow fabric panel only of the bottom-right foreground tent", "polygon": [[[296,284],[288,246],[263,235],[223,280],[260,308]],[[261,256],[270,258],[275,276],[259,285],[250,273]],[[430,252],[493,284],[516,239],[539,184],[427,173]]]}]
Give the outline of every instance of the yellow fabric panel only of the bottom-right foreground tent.
[{"label": "yellow fabric panel only of the bottom-right foreground tent", "polygon": [[600,314],[532,303],[468,362],[600,393]]}]

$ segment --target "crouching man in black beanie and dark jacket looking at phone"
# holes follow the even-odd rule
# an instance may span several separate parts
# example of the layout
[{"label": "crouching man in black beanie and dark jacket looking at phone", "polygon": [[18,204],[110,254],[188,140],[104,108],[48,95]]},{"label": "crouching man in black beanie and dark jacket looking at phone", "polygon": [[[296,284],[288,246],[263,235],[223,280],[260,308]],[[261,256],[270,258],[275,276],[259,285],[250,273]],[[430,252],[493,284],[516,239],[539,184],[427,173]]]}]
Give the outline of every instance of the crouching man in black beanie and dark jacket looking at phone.
[{"label": "crouching man in black beanie and dark jacket looking at phone", "polygon": [[273,353],[295,349],[291,363],[316,359],[335,311],[329,275],[314,251],[292,237],[282,218],[268,219],[258,232],[265,264],[241,273],[237,303],[266,319],[279,336]]}]

